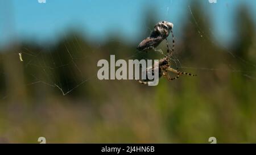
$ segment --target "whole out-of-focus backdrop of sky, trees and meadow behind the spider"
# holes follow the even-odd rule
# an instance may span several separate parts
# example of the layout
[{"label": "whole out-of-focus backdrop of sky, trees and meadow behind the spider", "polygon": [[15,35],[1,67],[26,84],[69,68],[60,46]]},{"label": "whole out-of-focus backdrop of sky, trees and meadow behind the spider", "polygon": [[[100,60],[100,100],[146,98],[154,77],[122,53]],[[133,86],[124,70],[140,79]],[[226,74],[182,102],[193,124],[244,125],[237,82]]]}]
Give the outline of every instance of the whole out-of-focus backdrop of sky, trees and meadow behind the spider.
[{"label": "whole out-of-focus backdrop of sky, trees and meadow behind the spider", "polygon": [[[1,0],[0,19],[1,143],[256,143],[253,0]],[[110,55],[163,57],[136,51],[162,20],[197,77],[97,78]]]}]

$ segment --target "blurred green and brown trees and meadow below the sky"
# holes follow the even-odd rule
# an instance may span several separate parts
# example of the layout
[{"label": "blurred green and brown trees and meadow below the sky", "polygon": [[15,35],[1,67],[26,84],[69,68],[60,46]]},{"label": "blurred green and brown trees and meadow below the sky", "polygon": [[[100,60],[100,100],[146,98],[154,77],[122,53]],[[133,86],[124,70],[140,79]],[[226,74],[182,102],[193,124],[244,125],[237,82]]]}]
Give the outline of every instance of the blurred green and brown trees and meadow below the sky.
[{"label": "blurred green and brown trees and meadow below the sky", "polygon": [[[236,43],[228,49],[214,41],[210,19],[195,6],[175,50],[179,70],[198,76],[162,78],[155,87],[98,80],[97,61],[110,55],[161,57],[138,53],[137,44],[115,35],[90,43],[70,31],[54,45],[21,42],[3,51],[0,142],[37,143],[44,136],[47,143],[208,143],[214,136],[217,143],[256,143],[256,39],[249,10],[238,9]],[[152,14],[145,15],[148,27],[158,22]]]}]

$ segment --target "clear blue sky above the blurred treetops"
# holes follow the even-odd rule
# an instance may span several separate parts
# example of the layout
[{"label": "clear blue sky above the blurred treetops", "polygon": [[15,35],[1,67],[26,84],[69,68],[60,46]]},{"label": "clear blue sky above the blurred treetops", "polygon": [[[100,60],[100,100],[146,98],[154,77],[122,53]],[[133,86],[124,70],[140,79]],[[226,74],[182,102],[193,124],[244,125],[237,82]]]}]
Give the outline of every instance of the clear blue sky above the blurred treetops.
[{"label": "clear blue sky above the blurred treetops", "polygon": [[[0,45],[15,39],[52,41],[65,35],[68,28],[81,31],[91,40],[104,41],[117,32],[119,36],[134,41],[146,27],[143,19],[147,8],[157,12],[156,17],[174,23],[175,33],[182,35],[182,23],[188,20],[189,5],[196,0],[1,0],[0,1]],[[220,41],[228,43],[234,37],[233,15],[241,3],[251,10],[256,21],[254,0],[197,0],[212,18],[212,31]],[[2,10],[2,11],[1,11]],[[191,21],[193,22],[193,21]],[[255,22],[256,23],[256,22]],[[8,31],[7,31],[8,30]],[[10,37],[11,36],[11,37]]]}]

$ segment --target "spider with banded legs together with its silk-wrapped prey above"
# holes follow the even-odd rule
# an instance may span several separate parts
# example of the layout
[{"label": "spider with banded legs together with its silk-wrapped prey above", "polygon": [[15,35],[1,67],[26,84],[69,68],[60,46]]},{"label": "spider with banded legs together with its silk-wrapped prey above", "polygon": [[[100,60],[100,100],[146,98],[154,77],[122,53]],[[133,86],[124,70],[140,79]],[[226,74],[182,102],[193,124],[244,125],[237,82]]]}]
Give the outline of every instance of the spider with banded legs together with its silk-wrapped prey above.
[{"label": "spider with banded legs together with its silk-wrapped prey above", "polygon": [[[166,26],[166,24],[167,24],[167,26]],[[147,37],[147,39],[143,40],[139,44],[138,48],[141,49],[142,47],[144,47],[144,48],[142,48],[143,50],[147,50],[150,48],[154,49],[157,45],[160,44],[160,43],[158,43],[158,41],[160,41],[160,40],[163,41],[165,39],[166,43],[167,43],[167,55],[164,56],[164,58],[160,59],[158,62],[159,63],[158,64],[159,78],[163,76],[163,77],[166,77],[168,79],[168,81],[172,81],[174,79],[179,78],[183,74],[188,75],[188,76],[196,76],[196,74],[191,74],[191,73],[187,73],[187,72],[179,72],[178,70],[175,70],[170,67],[171,66],[171,56],[172,56],[172,52],[174,52],[174,47],[175,47],[174,33],[172,32],[172,27],[173,27],[172,23],[165,22],[165,21],[159,22],[158,24],[156,24],[154,31],[151,33],[151,36]],[[169,35],[169,31],[171,31],[171,33],[172,33],[171,52],[170,52],[170,48],[169,48],[168,41],[167,41],[167,36]],[[153,37],[153,36],[156,36],[156,37]],[[153,41],[154,39],[158,40],[158,41]],[[146,45],[148,45],[148,46],[146,46]],[[152,74],[154,74],[154,66],[147,68],[146,73],[149,70],[151,70]],[[170,75],[168,74],[168,71],[177,74],[177,76],[174,78],[171,78]],[[138,81],[139,83],[142,83],[145,85],[148,84],[148,82],[151,82],[151,80],[148,80],[148,79],[143,79],[143,80],[135,79],[135,80]]]}]

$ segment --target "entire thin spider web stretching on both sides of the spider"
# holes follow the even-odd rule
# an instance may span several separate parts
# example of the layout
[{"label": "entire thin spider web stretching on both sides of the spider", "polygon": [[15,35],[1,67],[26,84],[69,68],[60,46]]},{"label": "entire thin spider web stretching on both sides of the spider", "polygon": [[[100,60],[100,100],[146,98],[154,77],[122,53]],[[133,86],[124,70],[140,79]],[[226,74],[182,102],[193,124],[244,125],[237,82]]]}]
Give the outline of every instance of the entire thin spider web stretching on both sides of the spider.
[{"label": "entire thin spider web stretching on both sides of the spider", "polygon": [[[172,1],[168,1],[168,6],[166,7],[166,14],[164,15],[165,18],[167,19],[167,16],[170,15],[170,8],[172,6]],[[244,60],[243,58],[236,56],[233,51],[230,51],[230,49],[226,48],[224,45],[220,45],[219,43],[216,43],[208,34],[206,34],[204,31],[201,30],[201,27],[199,25],[199,22],[197,22],[197,19],[194,16],[194,13],[191,9],[191,7],[188,5],[187,10],[189,11],[189,15],[192,17],[192,23],[193,25],[197,28],[197,35],[199,35],[201,38],[204,40],[210,41],[210,43],[218,46],[218,47],[223,47],[226,49],[225,51],[228,52],[228,54],[233,57],[235,60],[238,60],[242,62],[243,64],[247,66],[252,66],[255,69],[255,64],[251,64],[251,62]],[[170,21],[171,22],[171,21]],[[152,30],[152,27],[147,27],[149,30]],[[210,29],[209,29],[210,30]],[[215,33],[210,30],[212,33],[212,36],[216,37]],[[39,83],[42,83],[44,85],[53,87],[54,89],[57,89],[60,91],[62,95],[68,95],[71,93],[73,90],[76,90],[82,85],[85,85],[86,82],[91,81],[92,79],[97,78],[97,72],[93,72],[90,74],[85,74],[84,70],[82,70],[82,67],[79,65],[79,61],[87,61],[91,57],[89,56],[90,54],[94,53],[97,55],[97,48],[102,48],[101,45],[99,45],[97,48],[93,49],[93,51],[90,52],[79,52],[77,51],[83,51],[84,49],[82,48],[81,43],[79,40],[77,40],[77,36],[73,36],[75,38],[75,41],[68,41],[67,34],[64,32],[64,49],[63,51],[57,51],[55,54],[57,56],[53,57],[53,52],[51,51],[52,49],[49,49],[48,52],[45,52],[47,50],[43,51],[38,51],[37,53],[32,52],[31,49],[24,48],[22,49],[21,53],[24,58],[24,61],[22,62],[24,65],[25,70],[28,68],[34,68],[34,72],[42,74],[42,76],[38,77],[36,76],[37,74],[34,72],[26,73],[27,75],[30,76],[31,82],[26,83],[26,86],[34,86],[38,85]],[[175,28],[174,28],[174,36],[175,35]],[[170,43],[171,37],[168,37],[168,41]],[[110,40],[106,41],[107,43],[113,42],[117,40]],[[175,39],[176,41],[176,39]],[[117,41],[118,42],[118,41]],[[164,41],[163,41],[164,42]],[[172,45],[170,44],[170,47]],[[60,53],[61,52],[61,53]],[[82,55],[81,55],[82,53]],[[134,52],[126,57],[120,57],[122,59],[131,59],[137,57],[141,52],[134,50]],[[158,53],[159,54],[159,53]],[[15,53],[17,60],[18,60],[18,52]],[[63,61],[63,55],[68,57],[67,61]],[[160,55],[160,54],[159,54]],[[160,55],[161,56],[161,55]],[[46,60],[47,57],[47,60]],[[51,57],[51,59],[48,59]],[[57,58],[57,60],[56,60]],[[0,58],[1,60],[3,58]],[[218,68],[205,68],[204,66],[201,67],[190,67],[190,66],[183,66],[183,63],[181,63],[181,59],[179,58],[179,52],[174,51],[172,55],[172,61],[174,62],[176,68],[181,68],[181,69],[192,69],[192,70],[197,70],[199,72],[213,72],[213,71],[219,71],[221,69]],[[89,65],[89,64],[88,64]],[[96,64],[93,64],[96,65]],[[230,66],[230,65],[229,65]],[[95,66],[96,67],[96,66]],[[56,70],[61,70],[62,73],[69,73],[72,75],[72,79],[69,79],[65,74],[64,74],[64,81],[60,81],[60,77],[55,73]],[[247,73],[255,73],[255,70],[239,70],[236,68],[233,68],[230,66],[229,68],[230,72],[239,72],[243,73],[243,76],[249,79],[256,79],[255,77],[250,76]],[[2,73],[5,74],[5,73]],[[6,99],[8,95],[5,95],[2,97],[2,99]]]}]

